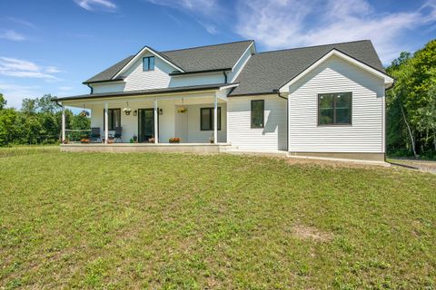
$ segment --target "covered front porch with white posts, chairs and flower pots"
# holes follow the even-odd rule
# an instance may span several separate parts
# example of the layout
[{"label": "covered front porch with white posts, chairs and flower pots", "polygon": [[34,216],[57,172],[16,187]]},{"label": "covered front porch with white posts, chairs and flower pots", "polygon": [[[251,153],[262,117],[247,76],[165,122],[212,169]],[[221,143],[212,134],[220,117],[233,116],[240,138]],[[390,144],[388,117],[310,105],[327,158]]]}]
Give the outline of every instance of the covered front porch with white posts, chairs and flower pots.
[{"label": "covered front porch with white posts, chairs and flower pots", "polygon": [[[63,151],[217,152],[227,147],[226,90],[64,98]],[[70,140],[65,108],[90,111],[89,137]],[[107,129],[107,130],[106,130]]]}]

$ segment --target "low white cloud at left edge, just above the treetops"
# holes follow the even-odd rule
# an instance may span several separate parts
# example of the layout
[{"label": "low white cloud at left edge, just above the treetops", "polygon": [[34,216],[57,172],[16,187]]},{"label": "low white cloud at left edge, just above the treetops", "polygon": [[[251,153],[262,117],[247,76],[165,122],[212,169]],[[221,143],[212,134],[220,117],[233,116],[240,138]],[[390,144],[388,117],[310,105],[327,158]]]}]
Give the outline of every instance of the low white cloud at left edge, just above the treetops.
[{"label": "low white cloud at left edge, just above the treetops", "polygon": [[28,62],[11,57],[0,57],[0,74],[12,77],[27,77],[45,79],[46,81],[58,81],[53,73],[61,71],[54,66],[42,67],[36,63]]}]

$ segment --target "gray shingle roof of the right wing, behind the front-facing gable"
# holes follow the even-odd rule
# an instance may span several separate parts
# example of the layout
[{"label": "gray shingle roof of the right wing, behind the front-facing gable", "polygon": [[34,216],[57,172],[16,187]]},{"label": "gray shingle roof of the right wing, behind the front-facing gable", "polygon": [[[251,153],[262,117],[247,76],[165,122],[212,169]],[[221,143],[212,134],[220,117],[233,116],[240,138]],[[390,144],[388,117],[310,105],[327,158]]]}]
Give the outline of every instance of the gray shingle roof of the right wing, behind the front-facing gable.
[{"label": "gray shingle roof of the right wing, behind the front-facing gable", "polygon": [[235,80],[240,84],[230,95],[268,93],[278,90],[333,48],[384,73],[381,61],[369,40],[256,53],[252,55]]}]

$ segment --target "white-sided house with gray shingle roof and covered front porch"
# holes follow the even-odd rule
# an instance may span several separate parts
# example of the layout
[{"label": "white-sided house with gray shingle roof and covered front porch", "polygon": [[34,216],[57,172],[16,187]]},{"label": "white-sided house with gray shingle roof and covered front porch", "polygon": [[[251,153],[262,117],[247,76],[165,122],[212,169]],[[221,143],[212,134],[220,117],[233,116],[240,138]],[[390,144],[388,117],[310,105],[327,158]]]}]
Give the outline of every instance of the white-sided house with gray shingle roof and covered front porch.
[{"label": "white-sided house with gray shingle roof and covered front porch", "polygon": [[[368,40],[263,53],[252,40],[165,52],[145,46],[84,84],[89,94],[55,101],[90,110],[101,138],[66,142],[63,121],[62,150],[384,160],[393,79]],[[112,143],[117,127],[121,140]]]}]

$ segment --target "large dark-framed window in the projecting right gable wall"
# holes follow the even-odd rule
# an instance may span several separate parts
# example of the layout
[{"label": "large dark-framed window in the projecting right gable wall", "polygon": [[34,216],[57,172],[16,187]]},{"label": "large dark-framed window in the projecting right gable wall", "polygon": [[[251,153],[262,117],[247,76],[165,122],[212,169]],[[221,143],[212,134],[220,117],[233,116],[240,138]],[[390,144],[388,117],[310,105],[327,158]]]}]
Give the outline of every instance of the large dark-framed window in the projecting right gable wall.
[{"label": "large dark-framed window in the projecting right gable wall", "polygon": [[318,95],[318,125],[351,125],[352,92]]}]

